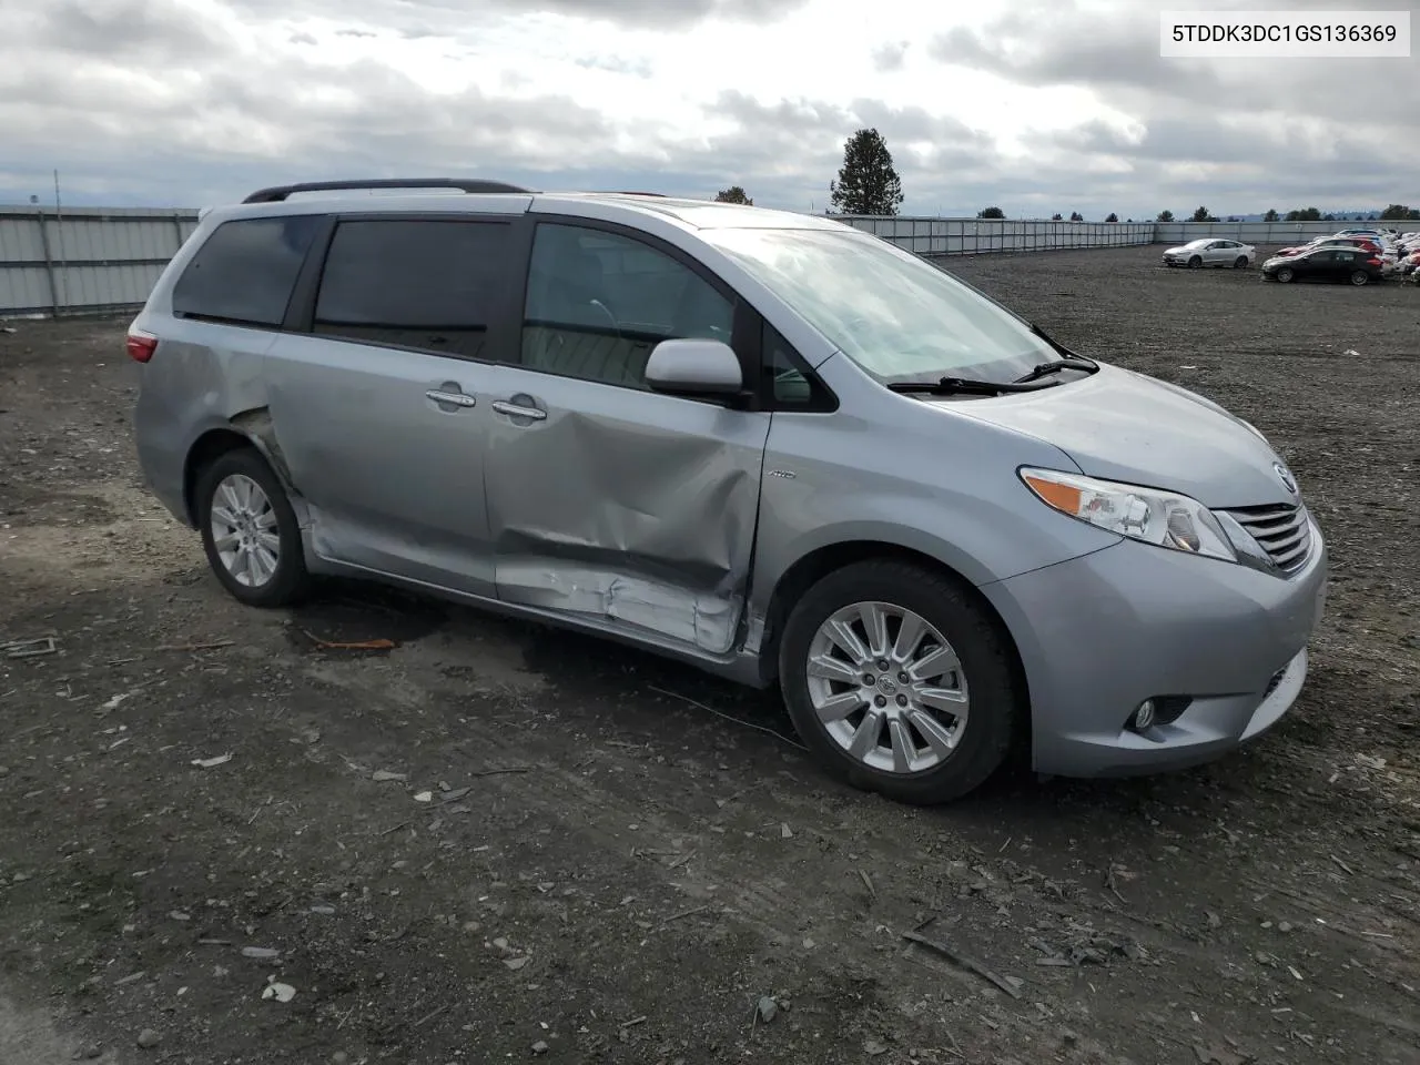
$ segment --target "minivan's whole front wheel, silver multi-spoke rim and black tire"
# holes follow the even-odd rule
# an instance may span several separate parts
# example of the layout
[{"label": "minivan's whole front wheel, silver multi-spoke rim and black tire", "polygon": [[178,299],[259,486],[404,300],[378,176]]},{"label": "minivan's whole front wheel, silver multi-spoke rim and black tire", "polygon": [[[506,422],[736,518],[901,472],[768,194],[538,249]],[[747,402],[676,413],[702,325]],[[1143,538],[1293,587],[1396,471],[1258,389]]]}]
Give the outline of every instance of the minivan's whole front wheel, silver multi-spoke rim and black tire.
[{"label": "minivan's whole front wheel, silver multi-spoke rim and black tire", "polygon": [[953,579],[878,559],[815,584],[790,615],[780,683],[832,775],[929,805],[1005,760],[1024,693],[1005,639]]}]

